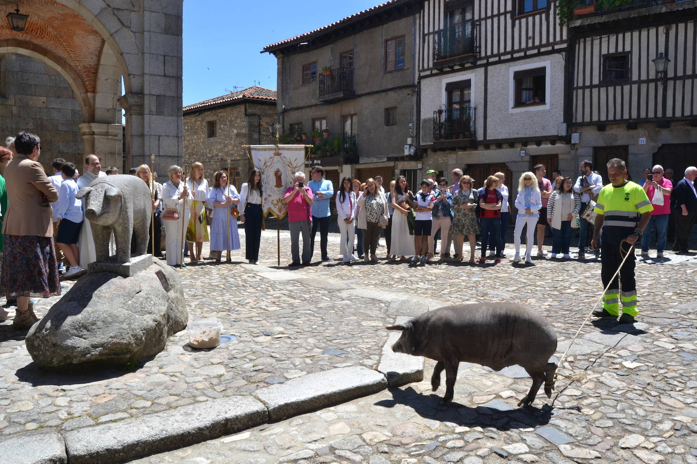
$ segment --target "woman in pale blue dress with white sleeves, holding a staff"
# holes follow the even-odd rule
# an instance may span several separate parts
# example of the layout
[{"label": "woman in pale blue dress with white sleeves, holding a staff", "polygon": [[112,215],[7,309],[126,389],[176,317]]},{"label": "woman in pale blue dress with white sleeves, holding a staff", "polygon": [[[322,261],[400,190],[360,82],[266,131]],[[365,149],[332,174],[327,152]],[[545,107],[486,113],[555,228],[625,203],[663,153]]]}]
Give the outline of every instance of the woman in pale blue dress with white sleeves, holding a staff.
[{"label": "woman in pale blue dress with white sleeves, holding a staff", "polygon": [[[219,170],[213,176],[213,188],[208,193],[208,202],[213,205],[213,219],[210,221],[210,252],[215,254],[216,262],[220,262],[223,250],[239,250],[240,235],[237,232],[237,205],[240,195],[235,186],[228,186],[227,173]],[[230,223],[230,234],[226,239]],[[226,243],[227,241],[227,243]]]}]

